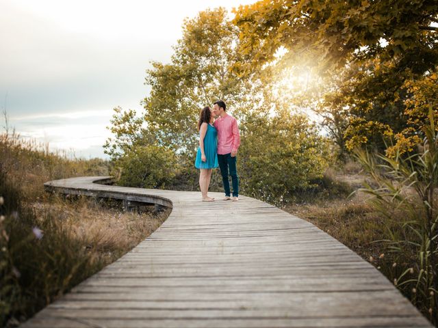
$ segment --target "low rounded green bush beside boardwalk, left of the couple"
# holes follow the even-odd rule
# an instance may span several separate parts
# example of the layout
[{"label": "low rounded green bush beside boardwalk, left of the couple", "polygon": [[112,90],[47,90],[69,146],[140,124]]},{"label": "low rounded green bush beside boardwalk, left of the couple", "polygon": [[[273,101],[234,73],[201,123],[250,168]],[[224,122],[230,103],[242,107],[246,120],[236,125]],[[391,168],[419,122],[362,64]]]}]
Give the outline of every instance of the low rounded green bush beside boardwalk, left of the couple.
[{"label": "low rounded green bush beside boardwalk, left of the couple", "polygon": [[136,146],[120,161],[118,184],[139,188],[164,188],[177,174],[177,156],[160,146]]}]

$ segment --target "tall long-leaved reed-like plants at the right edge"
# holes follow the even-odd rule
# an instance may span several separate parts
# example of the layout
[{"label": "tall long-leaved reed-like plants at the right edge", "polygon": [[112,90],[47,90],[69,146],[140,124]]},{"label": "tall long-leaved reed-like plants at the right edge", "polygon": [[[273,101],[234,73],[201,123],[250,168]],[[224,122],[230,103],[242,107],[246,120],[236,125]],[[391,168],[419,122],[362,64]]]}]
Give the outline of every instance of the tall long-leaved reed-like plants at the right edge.
[{"label": "tall long-leaved reed-like plants at the right edge", "polygon": [[[372,195],[372,204],[387,219],[385,241],[398,255],[398,267],[415,259],[414,267],[402,267],[394,284],[438,323],[438,133],[431,108],[424,134],[422,146],[407,157],[358,150],[357,158],[378,184],[361,190]],[[402,234],[389,228],[394,222]]]}]

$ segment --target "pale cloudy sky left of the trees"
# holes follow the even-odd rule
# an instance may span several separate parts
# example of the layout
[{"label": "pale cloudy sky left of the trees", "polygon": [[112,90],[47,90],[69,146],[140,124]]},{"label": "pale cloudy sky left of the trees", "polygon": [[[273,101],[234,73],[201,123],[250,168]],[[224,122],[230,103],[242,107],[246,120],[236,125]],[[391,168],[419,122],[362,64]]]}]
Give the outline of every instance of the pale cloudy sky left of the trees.
[{"label": "pale cloudy sky left of the trees", "polygon": [[0,109],[21,137],[107,158],[114,107],[142,111],[145,72],[170,61],[184,18],[253,2],[0,0]]}]

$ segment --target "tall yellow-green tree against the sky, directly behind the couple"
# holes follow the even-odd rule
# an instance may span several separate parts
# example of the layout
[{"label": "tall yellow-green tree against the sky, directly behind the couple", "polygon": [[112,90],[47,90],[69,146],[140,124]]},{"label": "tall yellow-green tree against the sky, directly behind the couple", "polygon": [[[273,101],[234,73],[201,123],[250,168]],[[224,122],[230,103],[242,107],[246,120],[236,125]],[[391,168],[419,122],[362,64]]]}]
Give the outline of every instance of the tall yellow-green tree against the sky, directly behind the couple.
[{"label": "tall yellow-green tree against the sky, directly behind the couple", "polygon": [[192,154],[198,146],[196,122],[203,107],[221,98],[233,109],[251,105],[244,95],[255,96],[254,86],[229,70],[238,60],[237,33],[224,9],[200,12],[185,20],[171,63],[154,62],[147,71],[146,83],[152,90],[143,102],[144,117],[160,145]]}]

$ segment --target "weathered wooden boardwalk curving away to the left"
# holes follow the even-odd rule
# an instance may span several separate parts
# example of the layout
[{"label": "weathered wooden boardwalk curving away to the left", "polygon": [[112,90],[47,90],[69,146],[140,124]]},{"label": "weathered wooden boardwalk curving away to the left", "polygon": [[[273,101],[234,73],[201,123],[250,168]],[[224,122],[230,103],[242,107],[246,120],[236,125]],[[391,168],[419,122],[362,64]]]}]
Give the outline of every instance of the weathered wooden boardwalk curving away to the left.
[{"label": "weathered wooden boardwalk curving away to the left", "polygon": [[22,327],[432,327],[370,263],[279,208],[244,196],[201,202],[198,192],[93,183],[102,179],[45,186],[172,213]]}]

